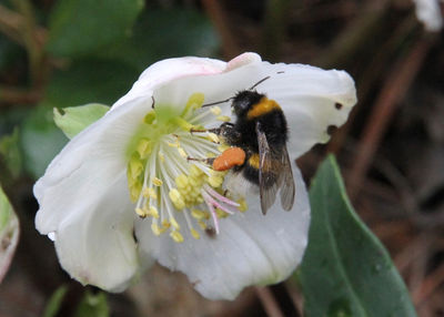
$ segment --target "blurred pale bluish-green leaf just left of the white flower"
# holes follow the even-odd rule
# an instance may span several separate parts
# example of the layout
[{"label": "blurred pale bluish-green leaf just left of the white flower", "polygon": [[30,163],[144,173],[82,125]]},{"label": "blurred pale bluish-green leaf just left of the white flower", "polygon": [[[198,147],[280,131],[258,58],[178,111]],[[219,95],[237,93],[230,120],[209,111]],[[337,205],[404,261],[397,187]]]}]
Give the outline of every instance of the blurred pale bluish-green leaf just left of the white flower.
[{"label": "blurred pale bluish-green leaf just left of the white flower", "polygon": [[62,150],[68,139],[52,120],[52,106],[37,106],[20,129],[23,167],[34,178],[43,175],[48,164]]}]

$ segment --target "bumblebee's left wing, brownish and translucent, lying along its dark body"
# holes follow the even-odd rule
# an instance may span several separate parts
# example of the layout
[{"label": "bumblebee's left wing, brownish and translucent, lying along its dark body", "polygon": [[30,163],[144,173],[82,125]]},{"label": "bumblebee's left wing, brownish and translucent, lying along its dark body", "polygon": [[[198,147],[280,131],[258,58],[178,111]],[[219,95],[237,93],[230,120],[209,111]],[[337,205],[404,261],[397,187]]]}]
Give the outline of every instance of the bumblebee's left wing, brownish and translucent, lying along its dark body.
[{"label": "bumblebee's left wing, brownish and translucent, lying along its dark body", "polygon": [[[258,145],[259,145],[259,190],[261,194],[261,208],[265,215],[266,211],[273,205],[276,200],[279,182],[274,182],[276,175],[273,173],[264,173],[272,171],[271,164],[274,155],[270,150],[265,133],[261,129],[260,122],[256,123]],[[281,182],[282,184],[282,182]]]}]

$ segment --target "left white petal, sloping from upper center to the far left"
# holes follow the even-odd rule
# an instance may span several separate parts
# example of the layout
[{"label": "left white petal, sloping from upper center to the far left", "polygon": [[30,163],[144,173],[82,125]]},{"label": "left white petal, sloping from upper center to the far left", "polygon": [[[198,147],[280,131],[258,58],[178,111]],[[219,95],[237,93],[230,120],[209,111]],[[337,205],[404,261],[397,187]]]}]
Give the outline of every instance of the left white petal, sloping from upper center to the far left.
[{"label": "left white petal, sloping from upper center to the far left", "polygon": [[[75,137],[56,156],[34,185],[40,204],[36,227],[41,234],[58,231],[71,213],[82,213],[101,197],[127,168],[125,150],[151,102],[133,101],[108,113]],[[124,193],[122,200],[129,200]]]}]

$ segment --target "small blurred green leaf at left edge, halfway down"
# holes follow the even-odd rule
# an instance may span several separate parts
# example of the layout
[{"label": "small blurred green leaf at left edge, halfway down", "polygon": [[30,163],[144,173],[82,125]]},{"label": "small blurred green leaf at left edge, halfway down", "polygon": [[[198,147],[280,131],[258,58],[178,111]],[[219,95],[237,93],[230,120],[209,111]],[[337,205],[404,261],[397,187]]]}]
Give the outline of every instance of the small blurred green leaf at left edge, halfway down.
[{"label": "small blurred green leaf at left edge, halfway down", "polygon": [[12,177],[18,177],[21,171],[21,153],[19,149],[19,129],[16,127],[10,135],[0,139],[0,155]]}]

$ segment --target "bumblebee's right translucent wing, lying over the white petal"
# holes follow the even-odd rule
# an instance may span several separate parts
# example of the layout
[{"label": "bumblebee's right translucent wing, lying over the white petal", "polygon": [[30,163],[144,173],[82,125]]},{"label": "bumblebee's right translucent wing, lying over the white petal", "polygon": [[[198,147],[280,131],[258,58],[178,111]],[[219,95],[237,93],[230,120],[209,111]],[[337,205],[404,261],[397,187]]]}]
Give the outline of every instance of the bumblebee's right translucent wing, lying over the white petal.
[{"label": "bumblebee's right translucent wing, lying over the white petal", "polygon": [[281,156],[282,170],[279,175],[280,178],[283,178],[283,183],[282,181],[279,181],[280,187],[282,186],[281,204],[282,207],[289,212],[293,207],[294,195],[296,191],[294,186],[293,172],[291,168],[291,161],[289,156],[289,151],[286,151],[286,146],[282,149],[281,155],[282,155]]}]

